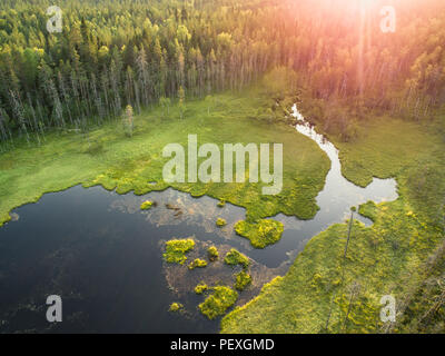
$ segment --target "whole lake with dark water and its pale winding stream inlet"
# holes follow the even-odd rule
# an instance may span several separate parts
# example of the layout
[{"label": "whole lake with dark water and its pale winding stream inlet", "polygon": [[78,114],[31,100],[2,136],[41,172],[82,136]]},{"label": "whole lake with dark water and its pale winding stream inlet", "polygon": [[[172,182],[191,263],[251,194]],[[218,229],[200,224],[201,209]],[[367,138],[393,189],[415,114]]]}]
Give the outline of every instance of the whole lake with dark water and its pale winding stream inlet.
[{"label": "whole lake with dark water and its pale winding stream inlet", "polygon": [[[219,208],[209,197],[174,189],[139,197],[81,186],[47,194],[14,209],[12,221],[0,228],[0,333],[217,333],[219,319],[198,312],[204,297],[194,288],[200,281],[233,285],[234,269],[222,258],[192,271],[168,265],[162,261],[166,240],[192,236],[197,245],[189,260],[205,257],[210,245],[220,257],[233,247],[249,256],[254,281],[240,293],[237,305],[243,305],[284,275],[310,237],[348,218],[352,206],[397,198],[394,179],[374,179],[366,188],[346,180],[334,145],[304,121],[296,106],[294,115],[300,119],[297,130],[332,160],[313,220],[274,217],[285,224],[283,238],[258,250],[234,233],[245,210],[229,204]],[[156,207],[141,211],[147,199]],[[218,217],[226,227],[215,226]],[[49,295],[62,298],[62,323],[46,319]],[[185,312],[169,313],[172,301],[184,304]]]}]

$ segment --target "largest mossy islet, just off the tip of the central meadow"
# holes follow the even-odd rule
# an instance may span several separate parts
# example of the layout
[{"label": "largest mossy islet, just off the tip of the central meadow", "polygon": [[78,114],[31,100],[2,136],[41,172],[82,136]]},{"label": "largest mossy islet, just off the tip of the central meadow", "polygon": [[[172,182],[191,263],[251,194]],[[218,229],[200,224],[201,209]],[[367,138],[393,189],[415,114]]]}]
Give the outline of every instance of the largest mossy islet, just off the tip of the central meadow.
[{"label": "largest mossy islet, just off the tip of the central meadow", "polygon": [[284,225],[271,219],[263,219],[258,222],[241,220],[235,225],[235,231],[249,239],[255,248],[265,248],[268,245],[276,244],[281,238]]}]

